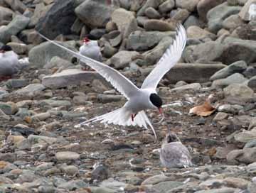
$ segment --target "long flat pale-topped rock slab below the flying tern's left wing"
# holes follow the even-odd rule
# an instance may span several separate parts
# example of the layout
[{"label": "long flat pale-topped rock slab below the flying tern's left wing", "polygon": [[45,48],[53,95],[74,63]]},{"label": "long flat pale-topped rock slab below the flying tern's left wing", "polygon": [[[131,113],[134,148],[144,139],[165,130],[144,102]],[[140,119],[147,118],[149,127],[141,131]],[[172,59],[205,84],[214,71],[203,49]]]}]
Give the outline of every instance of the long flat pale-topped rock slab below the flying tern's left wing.
[{"label": "long flat pale-topped rock slab below the flying tern's left wing", "polygon": [[71,85],[80,85],[82,82],[92,82],[93,79],[100,79],[105,82],[97,72],[68,69],[43,77],[42,84],[49,88],[63,88]]}]

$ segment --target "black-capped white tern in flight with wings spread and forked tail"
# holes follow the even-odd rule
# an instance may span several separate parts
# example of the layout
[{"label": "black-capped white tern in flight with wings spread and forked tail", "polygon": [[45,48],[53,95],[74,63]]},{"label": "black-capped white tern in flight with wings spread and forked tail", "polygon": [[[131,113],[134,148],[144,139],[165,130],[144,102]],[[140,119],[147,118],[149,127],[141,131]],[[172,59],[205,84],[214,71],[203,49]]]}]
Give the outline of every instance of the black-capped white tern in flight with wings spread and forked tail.
[{"label": "black-capped white tern in flight with wings spread and forked tail", "polygon": [[147,125],[149,125],[156,138],[156,132],[154,131],[154,128],[144,110],[158,109],[159,113],[164,116],[161,109],[163,102],[160,96],[157,95],[156,87],[166,72],[169,72],[171,67],[176,65],[178,60],[181,58],[183,49],[186,46],[186,30],[181,24],[177,25],[176,38],[174,38],[173,43],[171,43],[164,55],[160,58],[154,70],[152,70],[146,77],[140,89],[127,79],[127,77],[124,77],[124,75],[112,67],[93,60],[90,57],[86,57],[85,55],[81,55],[80,53],[76,53],[73,50],[69,50],[63,45],[60,45],[53,40],[49,40],[44,35],[41,36],[50,43],[68,51],[68,53],[74,55],[82,62],[85,62],[110,82],[112,86],[128,100],[121,108],[111,111],[110,113],[91,118],[90,120],[76,125],[75,127],[80,127],[85,123],[95,121],[101,121],[101,123],[113,123],[119,126],[139,126],[144,128],[148,128]]}]

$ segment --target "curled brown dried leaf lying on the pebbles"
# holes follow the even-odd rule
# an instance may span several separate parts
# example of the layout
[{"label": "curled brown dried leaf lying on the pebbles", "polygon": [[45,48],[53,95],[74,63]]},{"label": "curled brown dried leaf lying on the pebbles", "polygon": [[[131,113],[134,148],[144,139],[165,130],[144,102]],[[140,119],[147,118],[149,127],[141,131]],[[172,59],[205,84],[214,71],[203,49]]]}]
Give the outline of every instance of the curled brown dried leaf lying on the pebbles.
[{"label": "curled brown dried leaf lying on the pebbles", "polygon": [[198,116],[210,116],[216,109],[211,106],[210,102],[206,100],[204,104],[194,106],[189,110],[190,114],[196,114]]}]

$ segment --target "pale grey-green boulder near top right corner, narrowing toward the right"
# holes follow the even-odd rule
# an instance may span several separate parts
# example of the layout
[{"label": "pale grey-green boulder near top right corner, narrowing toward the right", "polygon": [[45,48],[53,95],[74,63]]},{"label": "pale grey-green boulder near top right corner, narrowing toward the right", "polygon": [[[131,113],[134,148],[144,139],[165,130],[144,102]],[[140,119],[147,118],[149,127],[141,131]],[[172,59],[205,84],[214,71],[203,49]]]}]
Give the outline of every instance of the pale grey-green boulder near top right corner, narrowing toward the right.
[{"label": "pale grey-green boulder near top right corner, narrowing toward the right", "polygon": [[239,13],[240,10],[240,6],[228,6],[227,2],[210,9],[207,13],[209,30],[213,33],[217,33],[221,28],[223,28],[223,21],[225,18]]}]

